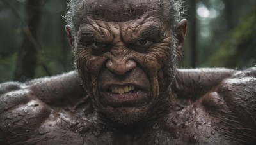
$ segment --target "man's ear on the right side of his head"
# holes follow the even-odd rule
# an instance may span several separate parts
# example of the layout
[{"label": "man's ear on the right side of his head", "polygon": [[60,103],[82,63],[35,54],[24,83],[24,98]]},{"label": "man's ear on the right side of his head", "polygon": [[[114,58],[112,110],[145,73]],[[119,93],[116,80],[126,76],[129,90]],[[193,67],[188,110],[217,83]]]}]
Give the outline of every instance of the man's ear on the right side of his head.
[{"label": "man's ear on the right side of his head", "polygon": [[187,20],[183,19],[181,20],[178,25],[177,25],[177,29],[176,29],[176,38],[178,39],[178,46],[177,46],[177,50],[181,53],[182,47],[184,45],[184,41],[185,41],[185,35],[186,35],[186,31],[187,31]]}]

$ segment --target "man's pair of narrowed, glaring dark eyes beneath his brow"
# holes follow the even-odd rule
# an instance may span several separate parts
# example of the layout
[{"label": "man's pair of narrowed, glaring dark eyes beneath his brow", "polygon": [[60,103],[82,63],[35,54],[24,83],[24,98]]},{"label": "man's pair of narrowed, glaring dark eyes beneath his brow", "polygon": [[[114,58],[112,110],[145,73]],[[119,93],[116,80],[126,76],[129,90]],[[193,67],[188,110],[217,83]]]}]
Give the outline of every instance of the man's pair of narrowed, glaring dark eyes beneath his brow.
[{"label": "man's pair of narrowed, glaring dark eyes beneath his brow", "polygon": [[[149,39],[140,39],[140,40],[136,41],[135,43],[132,43],[131,45],[128,45],[128,47],[131,47],[131,48],[145,48],[145,47],[148,47],[152,44],[153,44],[153,41],[150,41]],[[95,50],[99,50],[99,49],[102,49],[102,48],[109,48],[111,46],[107,43],[100,43],[100,42],[97,42],[97,41],[93,41],[90,45]]]}]

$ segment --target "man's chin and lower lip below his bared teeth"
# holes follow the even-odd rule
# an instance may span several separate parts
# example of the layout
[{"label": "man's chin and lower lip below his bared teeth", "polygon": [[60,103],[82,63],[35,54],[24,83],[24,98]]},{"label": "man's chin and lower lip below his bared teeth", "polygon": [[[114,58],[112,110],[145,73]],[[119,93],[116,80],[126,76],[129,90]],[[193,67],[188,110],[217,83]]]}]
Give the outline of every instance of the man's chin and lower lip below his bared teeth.
[{"label": "man's chin and lower lip below his bared teeth", "polygon": [[125,88],[126,93],[121,94],[115,93],[115,88],[113,91],[108,88],[111,86],[100,89],[99,93],[97,89],[93,91],[93,94],[97,95],[95,99],[98,100],[96,101],[99,107],[98,112],[106,116],[108,120],[121,125],[131,125],[147,118],[148,110],[154,104],[156,97],[150,94],[155,93],[148,92],[149,89],[143,90],[139,86],[132,86],[132,89],[128,88],[128,90]]}]

